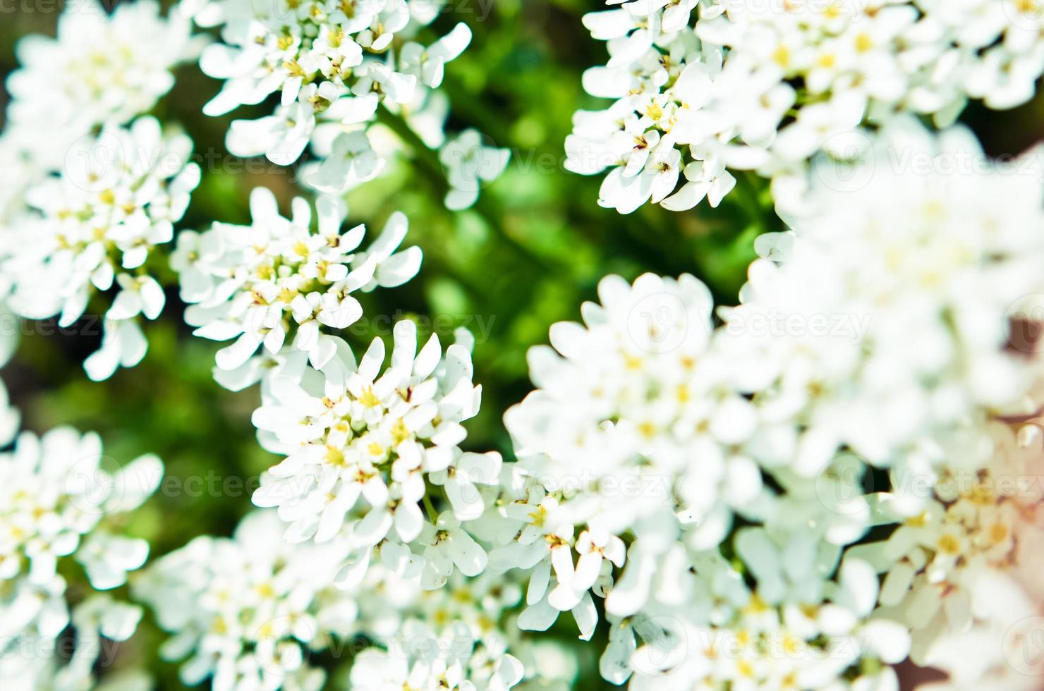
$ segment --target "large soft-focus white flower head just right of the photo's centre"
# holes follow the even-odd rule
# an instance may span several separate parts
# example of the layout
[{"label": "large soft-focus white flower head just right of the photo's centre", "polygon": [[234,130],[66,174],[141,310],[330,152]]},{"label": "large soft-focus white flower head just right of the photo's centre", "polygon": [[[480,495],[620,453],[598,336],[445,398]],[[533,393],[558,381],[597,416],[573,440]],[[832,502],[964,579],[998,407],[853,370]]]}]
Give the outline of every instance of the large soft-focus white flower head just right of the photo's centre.
[{"label": "large soft-focus white flower head just right of the photo's centre", "polygon": [[[688,276],[645,275],[634,286],[609,277],[599,295],[601,306],[584,307],[586,327],[552,327],[557,352],[530,351],[541,389],[505,415],[516,450],[598,544],[627,529],[641,541],[643,526],[678,530],[664,513],[673,492],[685,522],[698,526],[692,539],[713,546],[733,509],[759,510],[761,486],[742,450],[754,411],[706,352],[707,288]],[[696,453],[698,464],[685,462]]]}]

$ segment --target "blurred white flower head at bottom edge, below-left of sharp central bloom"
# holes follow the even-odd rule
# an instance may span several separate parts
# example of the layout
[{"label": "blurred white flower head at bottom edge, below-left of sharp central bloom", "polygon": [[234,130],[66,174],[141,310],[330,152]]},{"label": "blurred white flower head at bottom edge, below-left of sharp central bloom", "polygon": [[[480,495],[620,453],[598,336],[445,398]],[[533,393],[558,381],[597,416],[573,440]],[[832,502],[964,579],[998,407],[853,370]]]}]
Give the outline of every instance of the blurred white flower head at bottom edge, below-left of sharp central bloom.
[{"label": "blurred white flower head at bottom edge, below-left of sharp central bloom", "polygon": [[215,689],[319,688],[308,650],[354,630],[358,607],[332,587],[343,543],[290,545],[279,519],[257,511],[233,539],[196,538],[135,582],[161,627],[175,634],[161,654],[189,659],[181,677]]}]

